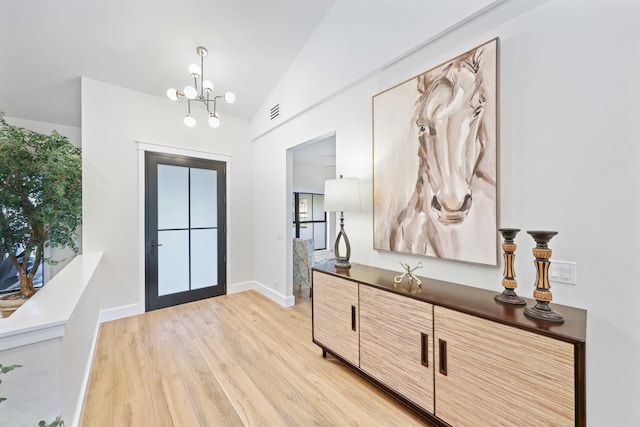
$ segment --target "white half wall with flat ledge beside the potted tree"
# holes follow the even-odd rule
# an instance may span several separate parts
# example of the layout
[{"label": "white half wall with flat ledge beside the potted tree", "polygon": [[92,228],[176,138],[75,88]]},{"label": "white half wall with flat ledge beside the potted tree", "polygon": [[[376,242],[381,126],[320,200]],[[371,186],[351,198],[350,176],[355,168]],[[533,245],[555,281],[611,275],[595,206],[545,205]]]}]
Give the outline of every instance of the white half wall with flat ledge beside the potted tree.
[{"label": "white half wall with flat ledge beside the potted tree", "polygon": [[98,337],[101,254],[73,259],[8,318],[0,319],[0,425],[29,427],[57,416],[78,425]]}]

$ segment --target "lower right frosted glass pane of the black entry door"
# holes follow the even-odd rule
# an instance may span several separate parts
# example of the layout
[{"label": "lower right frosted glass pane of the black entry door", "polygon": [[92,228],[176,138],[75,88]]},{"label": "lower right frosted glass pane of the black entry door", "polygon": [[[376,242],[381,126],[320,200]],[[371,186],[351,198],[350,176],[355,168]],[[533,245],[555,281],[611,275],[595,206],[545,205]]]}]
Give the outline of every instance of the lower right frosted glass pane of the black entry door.
[{"label": "lower right frosted glass pane of the black entry door", "polygon": [[218,230],[191,231],[191,289],[218,284]]}]

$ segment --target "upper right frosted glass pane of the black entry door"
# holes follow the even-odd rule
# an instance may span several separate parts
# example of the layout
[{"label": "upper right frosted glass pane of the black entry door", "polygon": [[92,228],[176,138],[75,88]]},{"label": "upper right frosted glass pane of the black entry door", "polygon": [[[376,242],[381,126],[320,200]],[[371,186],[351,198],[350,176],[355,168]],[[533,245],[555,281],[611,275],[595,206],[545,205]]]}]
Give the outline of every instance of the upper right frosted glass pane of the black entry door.
[{"label": "upper right frosted glass pane of the black entry door", "polygon": [[218,172],[191,168],[191,227],[218,226]]}]

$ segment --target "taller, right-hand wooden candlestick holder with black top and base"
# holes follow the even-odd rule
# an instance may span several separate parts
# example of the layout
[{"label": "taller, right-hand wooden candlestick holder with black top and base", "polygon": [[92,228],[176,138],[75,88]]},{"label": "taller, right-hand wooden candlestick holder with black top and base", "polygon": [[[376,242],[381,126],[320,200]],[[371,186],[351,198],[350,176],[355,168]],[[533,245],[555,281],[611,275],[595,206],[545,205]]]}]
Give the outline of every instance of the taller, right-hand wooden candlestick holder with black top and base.
[{"label": "taller, right-hand wooden candlestick holder with black top and base", "polygon": [[564,317],[557,311],[549,307],[552,300],[551,286],[549,285],[549,265],[551,262],[551,249],[547,246],[549,240],[557,231],[527,231],[536,241],[536,247],[533,248],[533,256],[536,257],[534,265],[536,266],[536,288],[533,291],[533,298],[536,304],[533,307],[526,307],[524,314],[534,319],[548,320],[549,322],[563,323]]}]

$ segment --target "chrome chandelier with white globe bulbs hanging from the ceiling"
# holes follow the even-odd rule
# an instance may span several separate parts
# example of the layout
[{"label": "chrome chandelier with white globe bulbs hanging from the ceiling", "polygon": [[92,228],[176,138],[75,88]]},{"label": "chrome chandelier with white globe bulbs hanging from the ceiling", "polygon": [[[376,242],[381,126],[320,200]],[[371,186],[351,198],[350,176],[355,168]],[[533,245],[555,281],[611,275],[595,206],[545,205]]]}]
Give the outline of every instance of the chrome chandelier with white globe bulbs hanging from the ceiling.
[{"label": "chrome chandelier with white globe bulbs hanging from the ceiling", "polygon": [[[209,113],[209,126],[217,128],[220,126],[220,117],[216,112],[216,101],[223,99],[227,104],[233,104],[236,96],[232,92],[225,92],[224,95],[212,95],[213,83],[211,80],[204,80],[204,57],[207,56],[207,49],[198,47],[196,53],[200,56],[200,66],[196,64],[189,65],[189,74],[193,78],[193,86],[185,86],[183,92],[171,88],[167,90],[167,96],[172,101],[177,101],[181,96],[187,97],[187,115],[184,118],[184,124],[187,127],[194,127],[196,119],[191,115],[191,102],[202,102]],[[198,85],[199,80],[199,85]],[[213,104],[213,111],[211,111]]]}]

